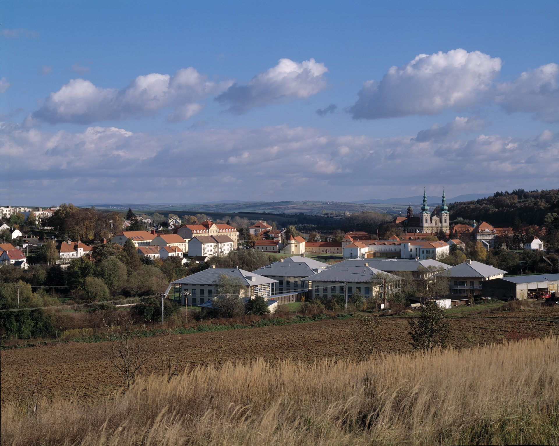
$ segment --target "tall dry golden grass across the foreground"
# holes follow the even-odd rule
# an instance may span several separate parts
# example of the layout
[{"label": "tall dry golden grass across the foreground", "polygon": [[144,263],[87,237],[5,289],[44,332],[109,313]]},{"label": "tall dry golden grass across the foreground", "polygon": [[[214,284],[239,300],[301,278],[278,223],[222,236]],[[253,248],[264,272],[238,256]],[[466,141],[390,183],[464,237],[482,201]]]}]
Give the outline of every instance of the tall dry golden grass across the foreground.
[{"label": "tall dry golden grass across the foreground", "polygon": [[2,406],[1,444],[557,444],[559,339],[363,362],[228,362],[140,378],[91,406],[23,403]]}]

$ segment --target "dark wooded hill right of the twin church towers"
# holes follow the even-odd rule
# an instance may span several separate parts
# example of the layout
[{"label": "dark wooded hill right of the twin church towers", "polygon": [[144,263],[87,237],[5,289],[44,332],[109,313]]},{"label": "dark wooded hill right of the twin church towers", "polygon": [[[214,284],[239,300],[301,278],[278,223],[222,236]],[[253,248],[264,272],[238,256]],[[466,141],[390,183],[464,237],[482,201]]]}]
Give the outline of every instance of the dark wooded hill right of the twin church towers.
[{"label": "dark wooded hill right of the twin church towers", "polygon": [[544,224],[548,213],[559,213],[559,190],[495,192],[494,196],[448,206],[452,220],[486,221],[493,226],[513,226],[518,217],[524,225]]}]

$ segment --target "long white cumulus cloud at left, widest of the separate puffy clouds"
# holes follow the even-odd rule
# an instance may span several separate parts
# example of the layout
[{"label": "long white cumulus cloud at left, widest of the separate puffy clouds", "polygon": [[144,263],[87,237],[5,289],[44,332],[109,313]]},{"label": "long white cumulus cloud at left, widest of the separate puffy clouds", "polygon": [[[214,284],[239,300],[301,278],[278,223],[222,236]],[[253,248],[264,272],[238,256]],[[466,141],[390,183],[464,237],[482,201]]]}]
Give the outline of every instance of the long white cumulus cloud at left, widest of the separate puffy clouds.
[{"label": "long white cumulus cloud at left, widest of the separate puffy clouds", "polygon": [[45,98],[28,123],[92,124],[106,120],[152,116],[167,107],[169,121],[185,120],[202,109],[198,103],[209,94],[223,91],[230,82],[215,83],[189,67],[174,75],[152,73],[138,76],[123,89],[101,88],[89,80],[72,79]]}]

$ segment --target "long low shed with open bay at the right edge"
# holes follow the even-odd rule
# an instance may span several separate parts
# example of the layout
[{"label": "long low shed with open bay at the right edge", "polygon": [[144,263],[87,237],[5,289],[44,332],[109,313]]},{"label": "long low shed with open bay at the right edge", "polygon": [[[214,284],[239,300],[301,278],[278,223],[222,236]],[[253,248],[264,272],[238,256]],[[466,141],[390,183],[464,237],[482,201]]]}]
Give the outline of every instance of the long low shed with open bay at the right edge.
[{"label": "long low shed with open bay at the right edge", "polygon": [[482,296],[503,300],[523,300],[557,292],[559,274],[537,274],[536,276],[501,277],[481,282]]}]

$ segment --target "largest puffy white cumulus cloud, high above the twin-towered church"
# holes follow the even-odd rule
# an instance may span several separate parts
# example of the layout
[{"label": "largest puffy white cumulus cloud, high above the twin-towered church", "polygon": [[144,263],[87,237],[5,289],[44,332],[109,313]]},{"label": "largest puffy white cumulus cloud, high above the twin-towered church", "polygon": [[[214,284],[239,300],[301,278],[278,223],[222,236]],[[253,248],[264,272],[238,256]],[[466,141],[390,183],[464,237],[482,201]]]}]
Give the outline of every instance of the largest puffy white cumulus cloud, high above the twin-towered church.
[{"label": "largest puffy white cumulus cloud, high above the twin-towered church", "polygon": [[480,51],[420,54],[390,68],[380,82],[365,82],[349,112],[354,119],[377,119],[463,110],[479,102],[500,69],[501,59]]}]

